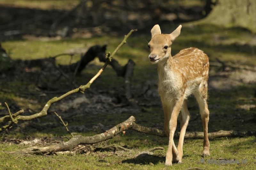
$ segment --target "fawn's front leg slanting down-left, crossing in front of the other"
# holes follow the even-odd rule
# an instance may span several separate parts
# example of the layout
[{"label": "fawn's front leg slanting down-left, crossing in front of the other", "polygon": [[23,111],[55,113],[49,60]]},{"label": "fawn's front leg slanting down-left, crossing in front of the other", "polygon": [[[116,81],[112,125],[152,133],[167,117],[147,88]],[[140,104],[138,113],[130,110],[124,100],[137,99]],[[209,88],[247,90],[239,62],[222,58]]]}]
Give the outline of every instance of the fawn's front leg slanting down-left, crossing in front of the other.
[{"label": "fawn's front leg slanting down-left, crossing in front of the other", "polygon": [[[184,100],[184,97],[182,97],[178,101],[176,101],[174,104],[174,107],[172,109],[172,115],[171,115],[171,119],[169,121],[169,130],[170,130],[169,145],[168,145],[168,149],[167,149],[167,153],[166,153],[166,157],[165,157],[165,165],[166,166],[172,165],[172,159],[173,159],[173,161],[179,161],[178,151],[175,152],[175,150],[174,150],[174,152],[173,152],[173,149],[175,147],[174,141],[173,141],[173,136],[174,136],[174,132],[177,127],[177,118],[178,118],[183,100]],[[174,145],[174,147],[173,147],[173,145]],[[175,147],[175,149],[176,149],[176,147]],[[175,155],[172,155],[172,153],[175,153]],[[175,157],[173,157],[173,156],[175,156]]]}]

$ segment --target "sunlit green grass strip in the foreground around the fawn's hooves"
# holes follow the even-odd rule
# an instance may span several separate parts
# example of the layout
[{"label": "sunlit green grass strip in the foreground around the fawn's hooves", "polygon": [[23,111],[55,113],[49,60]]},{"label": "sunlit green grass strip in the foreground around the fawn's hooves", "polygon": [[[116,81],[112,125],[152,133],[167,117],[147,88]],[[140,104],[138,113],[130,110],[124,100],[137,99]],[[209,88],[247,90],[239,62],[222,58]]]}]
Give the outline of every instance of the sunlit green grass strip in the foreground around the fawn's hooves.
[{"label": "sunlit green grass strip in the foreground around the fawn's hooves", "polygon": [[[147,142],[145,140],[147,139]],[[0,165],[4,169],[186,169],[188,167],[200,167],[205,169],[255,169],[255,137],[246,138],[220,138],[211,141],[211,157],[202,161],[202,139],[186,139],[183,149],[182,164],[173,164],[172,167],[164,166],[164,156],[167,151],[167,138],[159,138],[143,134],[126,134],[117,136],[108,143],[119,143],[132,148],[132,152],[118,156],[113,152],[97,152],[76,156],[42,156],[42,155],[18,155],[8,152],[24,148],[17,145],[2,144],[0,149]],[[175,140],[175,143],[178,141]],[[164,147],[163,151],[155,151],[154,155],[138,156],[137,154],[155,146]],[[119,152],[116,152],[120,154]],[[211,164],[208,160],[238,160],[234,164]],[[246,160],[246,163],[242,163]]]}]

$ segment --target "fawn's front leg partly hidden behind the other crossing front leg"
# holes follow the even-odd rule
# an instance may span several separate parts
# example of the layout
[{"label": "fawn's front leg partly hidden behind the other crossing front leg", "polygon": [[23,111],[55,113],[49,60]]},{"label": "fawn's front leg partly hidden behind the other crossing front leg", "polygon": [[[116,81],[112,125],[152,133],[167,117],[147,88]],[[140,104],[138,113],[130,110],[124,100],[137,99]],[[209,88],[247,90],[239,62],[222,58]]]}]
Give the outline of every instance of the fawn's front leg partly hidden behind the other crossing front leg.
[{"label": "fawn's front leg partly hidden behind the other crossing front leg", "polygon": [[[171,115],[172,115],[172,104],[164,105],[164,131],[169,139],[170,137],[170,125],[169,122],[171,120]],[[174,141],[172,140],[172,156],[173,156],[173,161],[178,162],[179,161],[179,153],[178,150],[174,144]]]}]

